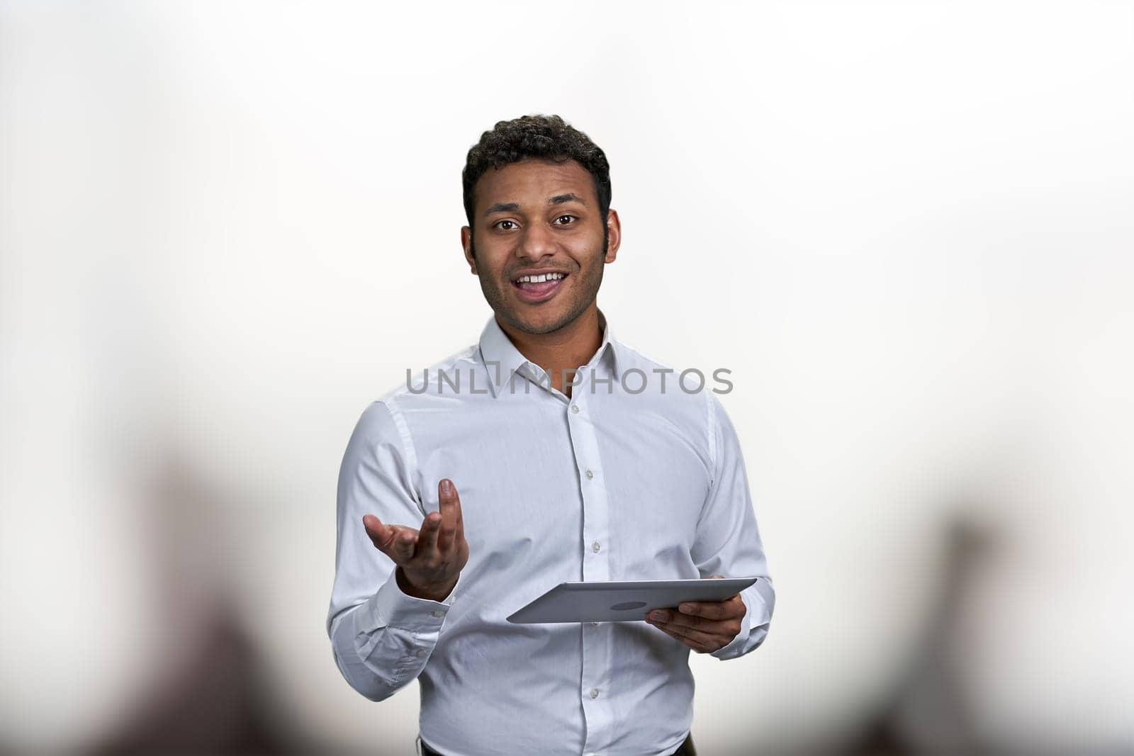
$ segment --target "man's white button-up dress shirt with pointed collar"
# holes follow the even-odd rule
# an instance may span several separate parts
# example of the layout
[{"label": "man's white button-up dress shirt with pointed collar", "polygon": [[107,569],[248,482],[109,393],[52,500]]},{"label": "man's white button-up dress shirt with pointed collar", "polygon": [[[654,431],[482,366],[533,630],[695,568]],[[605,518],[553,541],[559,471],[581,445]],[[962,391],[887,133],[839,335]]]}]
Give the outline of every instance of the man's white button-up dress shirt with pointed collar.
[{"label": "man's white button-up dress shirt with pointed collar", "polygon": [[[756,575],[739,635],[713,656],[746,654],[768,632],[775,593],[711,384],[687,393],[616,341],[601,312],[600,328],[568,398],[490,317],[479,345],[367,407],[347,444],[335,661],[373,700],[416,678],[421,738],[446,756],[662,755],[685,739],[694,682],[682,643],[645,622],[505,620],[565,580]],[[362,518],[420,527],[443,477],[460,496],[468,563],[434,602],[400,591]]]}]

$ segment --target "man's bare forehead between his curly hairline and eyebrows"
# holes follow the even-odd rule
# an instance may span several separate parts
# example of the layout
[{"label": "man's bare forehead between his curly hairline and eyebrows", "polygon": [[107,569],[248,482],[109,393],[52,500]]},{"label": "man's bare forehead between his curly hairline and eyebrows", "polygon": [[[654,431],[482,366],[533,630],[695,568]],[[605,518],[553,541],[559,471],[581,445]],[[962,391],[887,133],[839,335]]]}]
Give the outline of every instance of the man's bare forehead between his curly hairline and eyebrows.
[{"label": "man's bare forehead between his curly hairline and eyebrows", "polygon": [[544,204],[548,197],[568,193],[587,204],[596,202],[591,173],[574,160],[557,163],[530,158],[490,168],[473,188],[477,209],[507,202]]}]

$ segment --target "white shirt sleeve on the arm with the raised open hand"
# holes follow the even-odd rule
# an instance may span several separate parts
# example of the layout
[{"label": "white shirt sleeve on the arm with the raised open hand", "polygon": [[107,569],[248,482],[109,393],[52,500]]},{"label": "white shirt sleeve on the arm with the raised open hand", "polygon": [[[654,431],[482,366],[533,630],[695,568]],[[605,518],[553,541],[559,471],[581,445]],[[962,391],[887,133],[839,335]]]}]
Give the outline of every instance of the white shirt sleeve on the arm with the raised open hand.
[{"label": "white shirt sleeve on the arm with the raised open hand", "polygon": [[413,485],[413,444],[392,400],[362,414],[347,443],[338,483],[335,584],[327,615],[335,662],[355,690],[389,698],[429,661],[459,588],[442,602],[408,596],[395,564],[374,547],[364,515],[421,527],[425,511]]}]

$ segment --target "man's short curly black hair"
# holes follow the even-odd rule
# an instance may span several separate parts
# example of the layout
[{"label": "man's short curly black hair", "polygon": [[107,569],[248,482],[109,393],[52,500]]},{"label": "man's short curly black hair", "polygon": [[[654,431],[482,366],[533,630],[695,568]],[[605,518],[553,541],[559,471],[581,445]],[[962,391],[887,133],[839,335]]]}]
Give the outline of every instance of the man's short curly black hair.
[{"label": "man's short curly black hair", "polygon": [[562,162],[574,160],[594,179],[599,198],[599,215],[610,210],[610,163],[591,137],[568,125],[559,116],[523,116],[498,121],[491,131],[468,150],[465,170],[460,175],[465,193],[465,215],[473,224],[473,187],[490,168],[502,168],[525,158]]}]

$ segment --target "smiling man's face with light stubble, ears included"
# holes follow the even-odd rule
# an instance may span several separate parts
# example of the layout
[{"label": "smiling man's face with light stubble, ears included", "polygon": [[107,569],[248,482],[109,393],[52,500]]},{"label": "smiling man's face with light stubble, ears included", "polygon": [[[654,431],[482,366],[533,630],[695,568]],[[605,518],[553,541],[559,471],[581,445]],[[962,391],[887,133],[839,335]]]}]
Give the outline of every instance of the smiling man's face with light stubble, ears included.
[{"label": "smiling man's face with light stubble, ears included", "polygon": [[[585,168],[523,160],[489,170],[473,197],[473,226],[460,230],[465,260],[502,322],[551,333],[594,304],[621,233],[615,211],[600,216]],[[538,274],[549,278],[521,280]]]}]

